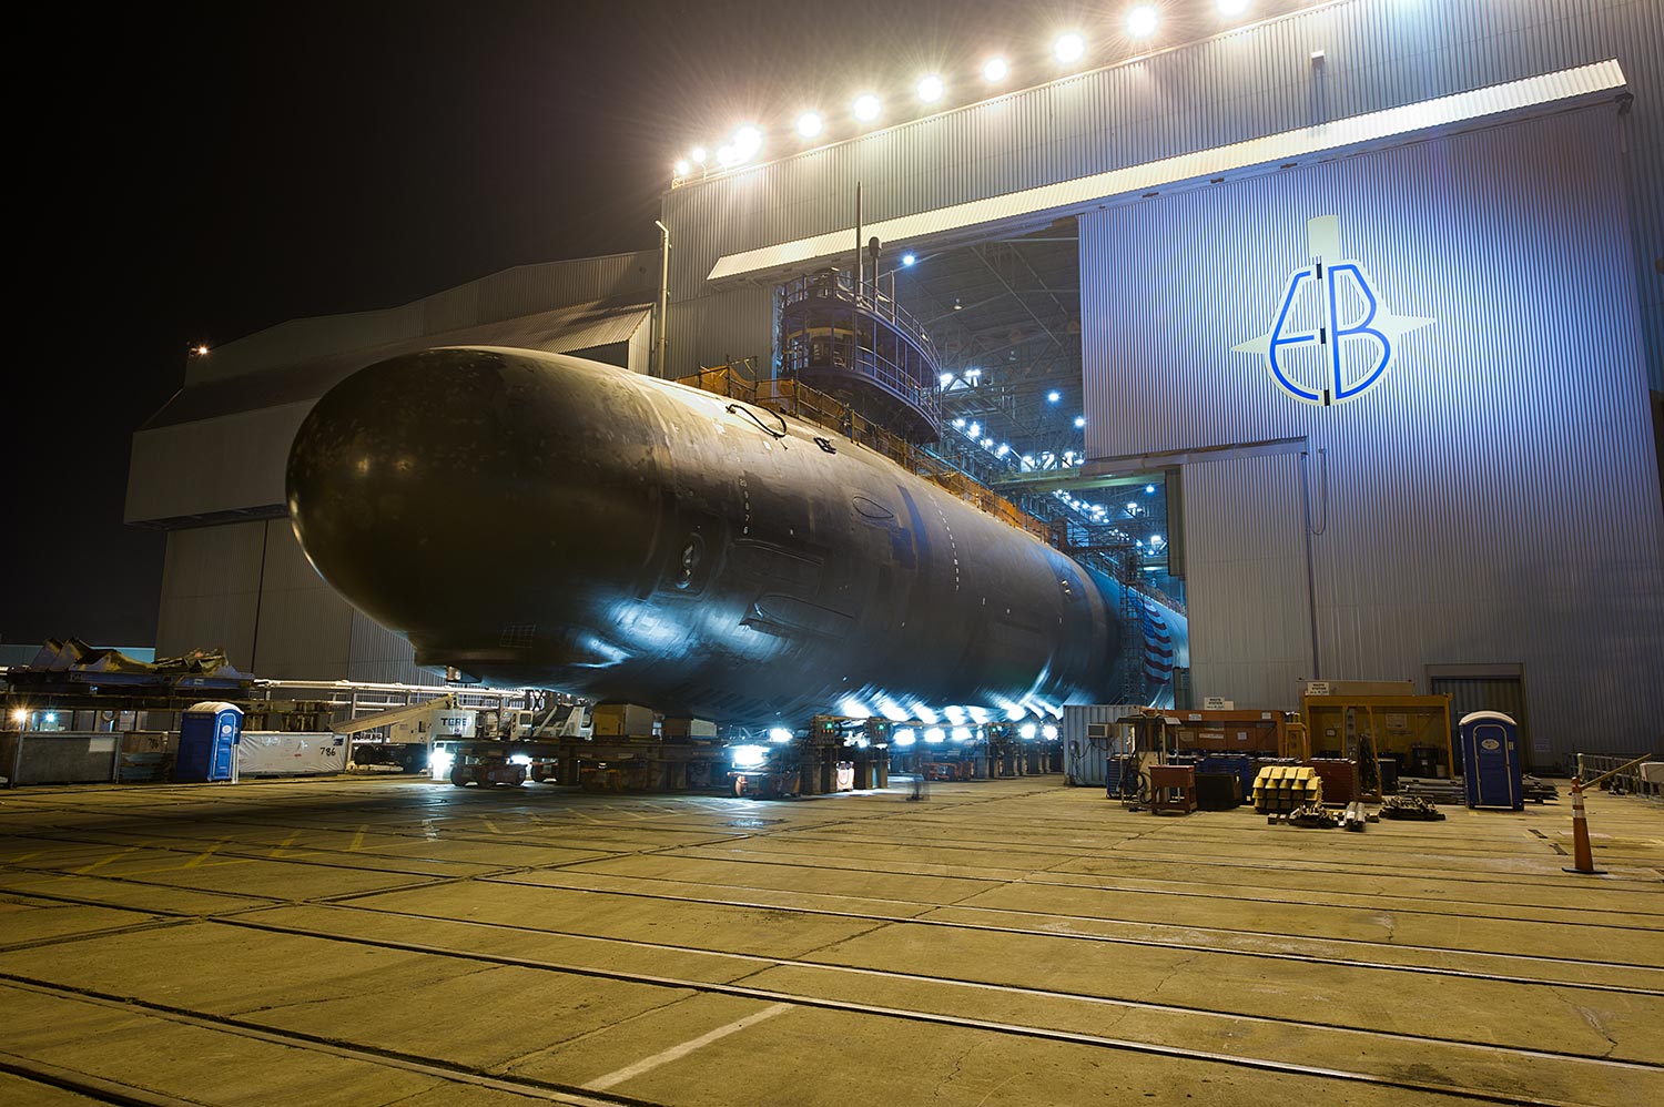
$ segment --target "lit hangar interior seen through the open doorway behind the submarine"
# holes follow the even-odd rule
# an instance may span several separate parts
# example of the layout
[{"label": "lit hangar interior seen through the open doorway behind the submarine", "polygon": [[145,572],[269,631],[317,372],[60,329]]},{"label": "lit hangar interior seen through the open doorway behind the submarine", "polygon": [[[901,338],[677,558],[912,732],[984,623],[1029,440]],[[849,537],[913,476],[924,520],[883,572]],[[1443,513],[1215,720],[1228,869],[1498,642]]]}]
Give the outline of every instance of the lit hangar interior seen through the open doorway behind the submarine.
[{"label": "lit hangar interior seen through the open doorway behind the submarine", "polygon": [[1127,644],[1110,678],[1117,702],[1171,704],[1188,663],[1176,469],[1083,469],[1077,221],[880,251],[877,281],[940,355],[934,449],[1052,523],[1102,574]]}]

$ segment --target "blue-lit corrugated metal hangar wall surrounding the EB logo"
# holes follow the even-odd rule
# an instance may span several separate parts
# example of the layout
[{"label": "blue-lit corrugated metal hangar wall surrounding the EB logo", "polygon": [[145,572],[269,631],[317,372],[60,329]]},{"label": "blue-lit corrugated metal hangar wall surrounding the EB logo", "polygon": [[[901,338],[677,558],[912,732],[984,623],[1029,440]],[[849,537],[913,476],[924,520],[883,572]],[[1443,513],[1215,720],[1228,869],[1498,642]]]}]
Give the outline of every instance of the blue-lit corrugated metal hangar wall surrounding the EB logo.
[{"label": "blue-lit corrugated metal hangar wall surrounding the EB logo", "polygon": [[[1639,752],[1664,717],[1664,523],[1631,133],[1587,108],[1083,216],[1088,454],[1306,439],[1321,676],[1426,689],[1429,664],[1519,663],[1558,756]],[[1434,320],[1373,391],[1331,408],[1231,350],[1271,330],[1321,215],[1386,310]],[[1298,639],[1290,464],[1185,466],[1198,696],[1286,686],[1288,661],[1255,676],[1256,644],[1218,621],[1283,621],[1278,649]],[[1275,553],[1231,566],[1241,543]]]}]

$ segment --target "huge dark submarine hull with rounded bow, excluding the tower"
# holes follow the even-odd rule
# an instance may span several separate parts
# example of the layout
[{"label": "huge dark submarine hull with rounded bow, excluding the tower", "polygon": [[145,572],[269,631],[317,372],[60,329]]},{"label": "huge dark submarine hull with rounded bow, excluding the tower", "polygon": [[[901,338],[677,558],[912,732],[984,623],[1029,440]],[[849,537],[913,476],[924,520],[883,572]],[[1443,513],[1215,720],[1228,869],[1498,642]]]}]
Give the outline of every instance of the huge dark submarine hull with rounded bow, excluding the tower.
[{"label": "huge dark submarine hull with rounded bow, excluding the tower", "polygon": [[[672,716],[1057,716],[1148,653],[1120,641],[1115,581],[890,459],[581,358],[359,370],[303,421],[288,508],[418,664]],[[1181,649],[1183,616],[1145,609]]]}]

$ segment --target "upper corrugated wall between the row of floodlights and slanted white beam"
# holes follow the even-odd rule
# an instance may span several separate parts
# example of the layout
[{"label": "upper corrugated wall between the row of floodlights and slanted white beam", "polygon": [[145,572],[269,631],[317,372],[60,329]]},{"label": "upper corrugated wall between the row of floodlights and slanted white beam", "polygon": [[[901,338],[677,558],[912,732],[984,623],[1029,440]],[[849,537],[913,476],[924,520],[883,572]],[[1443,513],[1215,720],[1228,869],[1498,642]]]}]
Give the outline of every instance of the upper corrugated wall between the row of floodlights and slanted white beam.
[{"label": "upper corrugated wall between the row of floodlights and slanted white beam", "polygon": [[[1313,67],[1313,50],[1325,52]],[[1311,123],[1617,58],[1637,98],[1626,171],[1649,366],[1664,388],[1664,5],[1657,0],[1356,0],[945,112],[664,196],[671,365],[764,353],[764,301],[699,305],[726,253],[1140,165]],[[774,138],[779,146],[789,137]],[[852,236],[854,245],[854,236]],[[1636,291],[1631,291],[1636,300]],[[707,345],[702,326],[712,328]]]}]

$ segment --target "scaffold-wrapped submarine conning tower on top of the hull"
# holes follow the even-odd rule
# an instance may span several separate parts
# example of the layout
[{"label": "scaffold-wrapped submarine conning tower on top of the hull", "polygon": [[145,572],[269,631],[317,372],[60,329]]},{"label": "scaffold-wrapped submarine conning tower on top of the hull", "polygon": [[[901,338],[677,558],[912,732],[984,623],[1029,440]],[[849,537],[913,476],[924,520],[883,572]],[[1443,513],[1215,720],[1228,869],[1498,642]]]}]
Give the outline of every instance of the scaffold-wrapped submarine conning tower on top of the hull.
[{"label": "scaffold-wrapped submarine conning tower on top of the hull", "polygon": [[775,295],[782,376],[830,393],[910,443],[942,438],[935,343],[877,280],[827,268]]}]

